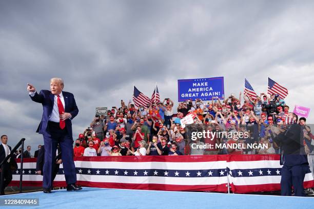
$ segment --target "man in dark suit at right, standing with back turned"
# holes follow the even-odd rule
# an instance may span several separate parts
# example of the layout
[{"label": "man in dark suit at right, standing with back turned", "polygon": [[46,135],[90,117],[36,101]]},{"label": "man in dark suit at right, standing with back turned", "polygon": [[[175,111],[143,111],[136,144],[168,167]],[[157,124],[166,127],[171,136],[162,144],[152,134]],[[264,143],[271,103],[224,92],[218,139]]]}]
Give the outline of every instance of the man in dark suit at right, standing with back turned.
[{"label": "man in dark suit at right, standing with back turned", "polygon": [[307,156],[305,154],[303,137],[300,125],[297,123],[298,116],[293,115],[291,124],[284,133],[279,134],[275,141],[280,144],[283,152],[280,163],[281,169],[281,195],[291,196],[292,186],[295,196],[305,196],[303,181],[305,174],[309,170]]}]

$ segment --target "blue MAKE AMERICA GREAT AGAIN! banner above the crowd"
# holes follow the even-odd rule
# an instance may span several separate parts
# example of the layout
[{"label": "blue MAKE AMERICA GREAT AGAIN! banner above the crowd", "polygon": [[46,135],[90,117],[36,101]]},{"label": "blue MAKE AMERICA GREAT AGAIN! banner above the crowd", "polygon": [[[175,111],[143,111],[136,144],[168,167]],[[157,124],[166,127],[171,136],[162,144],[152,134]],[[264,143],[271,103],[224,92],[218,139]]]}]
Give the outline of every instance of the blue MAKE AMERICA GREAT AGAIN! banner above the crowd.
[{"label": "blue MAKE AMERICA GREAT AGAIN! banner above the crowd", "polygon": [[178,80],[178,101],[222,99],[224,94],[224,77]]}]

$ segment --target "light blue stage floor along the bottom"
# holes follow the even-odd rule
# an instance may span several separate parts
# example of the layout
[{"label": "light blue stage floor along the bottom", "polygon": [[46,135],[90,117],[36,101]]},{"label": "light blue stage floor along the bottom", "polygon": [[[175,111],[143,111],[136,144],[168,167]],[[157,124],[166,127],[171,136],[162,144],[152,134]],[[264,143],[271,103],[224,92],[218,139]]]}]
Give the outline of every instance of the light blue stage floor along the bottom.
[{"label": "light blue stage floor along the bottom", "polygon": [[[164,192],[146,190],[114,190],[84,187],[79,192],[55,190],[1,196],[0,198],[39,198],[39,206],[7,208],[313,208],[314,198],[268,195],[238,195],[204,192]],[[6,208],[1,206],[1,208]]]}]

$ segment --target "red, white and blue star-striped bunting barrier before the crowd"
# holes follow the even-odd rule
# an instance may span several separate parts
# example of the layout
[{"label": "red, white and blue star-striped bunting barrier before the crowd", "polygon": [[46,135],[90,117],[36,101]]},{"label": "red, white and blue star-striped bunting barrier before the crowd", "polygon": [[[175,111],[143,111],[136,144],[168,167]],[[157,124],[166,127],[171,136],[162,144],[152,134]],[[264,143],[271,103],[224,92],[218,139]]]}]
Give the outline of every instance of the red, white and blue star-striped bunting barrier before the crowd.
[{"label": "red, white and blue star-striped bunting barrier before the crowd", "polygon": [[[185,155],[77,157],[77,184],[91,187],[164,191],[212,191],[233,193],[280,190],[279,155]],[[18,168],[20,161],[17,159]],[[36,158],[25,158],[23,186],[42,186],[35,173]],[[19,170],[12,186],[19,185]],[[66,186],[63,166],[54,186]],[[314,187],[308,170],[306,188]]]}]

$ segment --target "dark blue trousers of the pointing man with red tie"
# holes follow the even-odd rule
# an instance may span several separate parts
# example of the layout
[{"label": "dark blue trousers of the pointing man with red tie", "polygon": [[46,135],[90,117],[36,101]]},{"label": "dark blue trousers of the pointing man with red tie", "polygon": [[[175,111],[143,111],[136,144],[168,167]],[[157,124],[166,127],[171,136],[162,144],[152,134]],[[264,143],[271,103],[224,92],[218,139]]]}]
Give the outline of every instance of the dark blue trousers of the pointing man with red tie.
[{"label": "dark blue trousers of the pointing man with red tie", "polygon": [[66,128],[60,129],[59,123],[48,122],[47,134],[44,134],[45,143],[45,162],[43,168],[43,187],[49,189],[52,186],[53,181],[53,163],[55,159],[55,153],[57,144],[61,146],[62,164],[67,184],[73,184],[76,182],[76,171],[73,161],[73,140],[67,133]]}]

